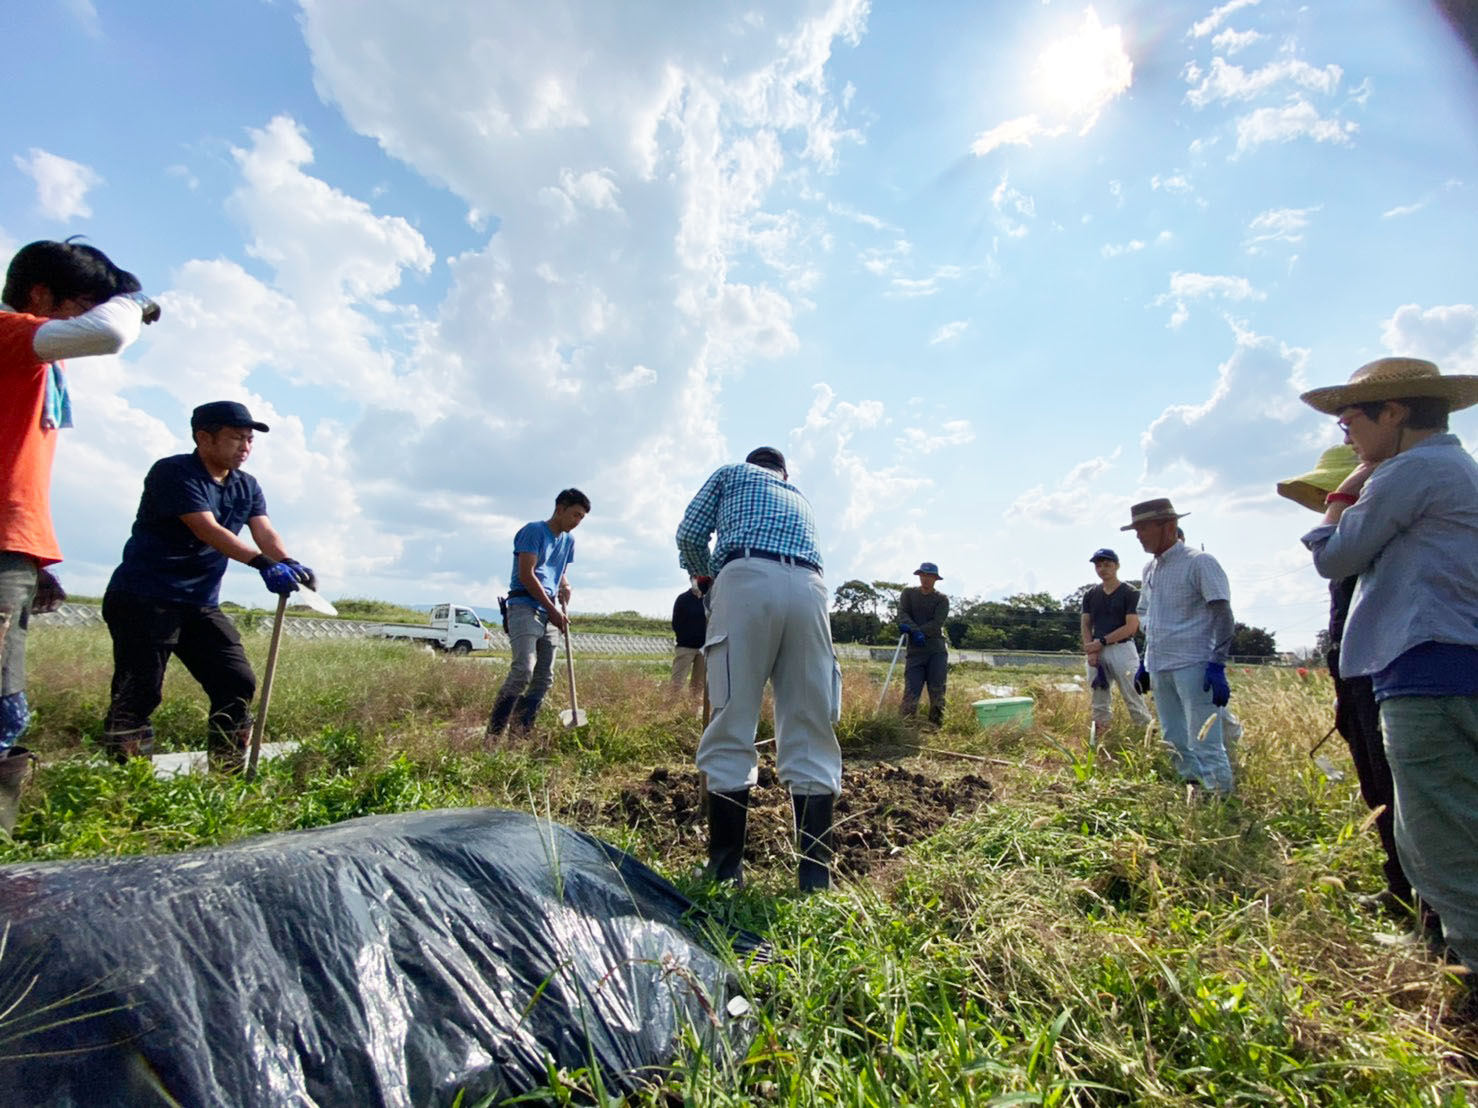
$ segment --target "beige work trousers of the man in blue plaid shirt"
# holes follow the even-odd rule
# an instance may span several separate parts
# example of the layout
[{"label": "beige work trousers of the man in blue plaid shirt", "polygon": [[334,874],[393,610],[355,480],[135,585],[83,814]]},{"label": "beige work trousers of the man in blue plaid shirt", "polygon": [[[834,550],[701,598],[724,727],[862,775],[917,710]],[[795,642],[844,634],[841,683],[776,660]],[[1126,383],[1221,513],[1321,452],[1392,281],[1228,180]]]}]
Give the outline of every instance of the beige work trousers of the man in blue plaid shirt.
[{"label": "beige work trousers of the man in blue plaid shirt", "polygon": [[764,684],[774,690],[776,773],[797,796],[841,792],[841,668],[831,641],[829,595],[820,573],[736,558],[709,591],[708,700],[698,768],[712,792],[758,780],[754,749]]}]

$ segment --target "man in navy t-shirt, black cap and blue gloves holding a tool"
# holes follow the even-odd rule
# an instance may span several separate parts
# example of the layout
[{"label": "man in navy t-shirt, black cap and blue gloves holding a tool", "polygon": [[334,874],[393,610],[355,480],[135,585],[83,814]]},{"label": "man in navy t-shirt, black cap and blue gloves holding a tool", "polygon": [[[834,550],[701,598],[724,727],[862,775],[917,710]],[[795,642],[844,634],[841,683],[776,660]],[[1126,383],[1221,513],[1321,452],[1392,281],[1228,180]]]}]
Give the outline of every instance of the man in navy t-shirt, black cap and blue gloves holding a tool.
[{"label": "man in navy t-shirt, black cap and blue gloves holding a tool", "polygon": [[[202,403],[191,415],[192,454],[154,462],[123,561],[102,598],[112,635],[112,702],[103,746],[120,762],[154,749],[149,717],[160,706],[164,668],[179,657],[205,696],[205,749],[214,770],[239,771],[251,737],[257,678],[241,635],[220,610],[226,563],[244,561],[268,589],[285,595],[299,582],[313,588],[313,570],[288,557],[268,519],[262,486],[241,465],[253,431],[268,425],[234,400]],[[247,527],[256,545],[236,538]]]}]

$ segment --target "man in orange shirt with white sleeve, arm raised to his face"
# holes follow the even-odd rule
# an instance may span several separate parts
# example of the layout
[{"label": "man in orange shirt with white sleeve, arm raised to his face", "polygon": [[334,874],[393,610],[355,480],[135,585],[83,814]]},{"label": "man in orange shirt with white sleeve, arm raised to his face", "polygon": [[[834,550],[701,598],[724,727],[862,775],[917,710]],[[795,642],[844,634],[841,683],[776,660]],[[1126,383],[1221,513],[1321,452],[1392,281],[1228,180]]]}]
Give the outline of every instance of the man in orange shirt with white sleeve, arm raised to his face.
[{"label": "man in orange shirt with white sleeve, arm raised to his face", "polygon": [[[139,279],[81,242],[31,242],[0,293],[0,767],[30,758],[15,742],[25,702],[25,632],[33,612],[65,598],[47,566],[62,560],[52,530],[56,433],[71,427],[64,358],[115,355],[160,318]],[[10,773],[0,773],[0,783]]]}]

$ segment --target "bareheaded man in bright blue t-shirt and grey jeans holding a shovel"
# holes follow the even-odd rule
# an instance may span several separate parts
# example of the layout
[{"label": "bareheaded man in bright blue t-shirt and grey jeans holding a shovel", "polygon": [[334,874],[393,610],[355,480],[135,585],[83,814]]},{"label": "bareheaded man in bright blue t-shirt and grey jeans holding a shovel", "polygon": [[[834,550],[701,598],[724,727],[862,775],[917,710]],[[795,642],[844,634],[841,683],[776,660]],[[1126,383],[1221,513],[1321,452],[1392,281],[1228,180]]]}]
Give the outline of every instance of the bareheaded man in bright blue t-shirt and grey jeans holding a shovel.
[{"label": "bareheaded man in bright blue t-shirt and grey jeans holding a shovel", "polygon": [[[579,489],[565,489],[554,498],[554,514],[519,527],[513,536],[513,572],[508,578],[508,643],[513,665],[492,702],[488,743],[503,737],[508,719],[519,731],[534,727],[544,696],[554,684],[559,632],[569,616],[569,576],[575,560],[571,532],[590,513],[590,498]],[[514,712],[517,715],[514,717]]]}]

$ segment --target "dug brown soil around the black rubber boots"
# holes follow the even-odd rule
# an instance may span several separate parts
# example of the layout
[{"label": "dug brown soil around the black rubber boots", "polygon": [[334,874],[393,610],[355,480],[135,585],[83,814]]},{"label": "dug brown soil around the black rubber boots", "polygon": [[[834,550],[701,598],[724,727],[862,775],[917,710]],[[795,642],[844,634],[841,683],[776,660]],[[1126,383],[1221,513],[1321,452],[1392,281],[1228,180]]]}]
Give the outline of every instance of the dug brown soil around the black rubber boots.
[{"label": "dug brown soil around the black rubber boots", "polygon": [[[990,782],[977,774],[933,777],[888,762],[847,765],[837,801],[837,867],[863,875],[928,838],[952,815],[968,815],[990,799]],[[609,823],[638,830],[664,857],[704,855],[705,821],[698,771],[658,767],[622,789],[603,808]],[[760,783],[749,795],[749,838],[745,863],[792,864],[791,796],[780,787],[773,762],[761,762]]]}]

